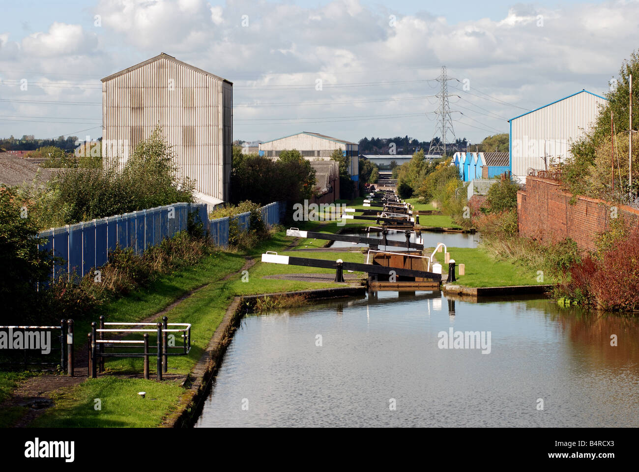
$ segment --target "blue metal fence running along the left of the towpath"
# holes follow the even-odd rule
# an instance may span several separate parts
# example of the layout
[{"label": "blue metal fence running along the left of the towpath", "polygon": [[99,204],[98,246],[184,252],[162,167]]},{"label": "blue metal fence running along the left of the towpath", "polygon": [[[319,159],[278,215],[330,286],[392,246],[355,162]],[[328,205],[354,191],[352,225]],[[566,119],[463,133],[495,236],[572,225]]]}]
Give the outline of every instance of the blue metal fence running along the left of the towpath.
[{"label": "blue metal fence running along the left of the towpath", "polygon": [[[261,208],[262,219],[268,226],[279,224],[286,211],[280,202]],[[203,223],[210,238],[217,246],[227,248],[229,244],[229,217],[208,219],[208,210],[203,203],[174,203],[164,207],[149,208],[123,215],[94,219],[83,223],[68,224],[63,228],[51,228],[40,233],[45,244],[38,249],[52,250],[63,262],[54,264],[52,276],[58,280],[71,274],[85,276],[91,269],[107,263],[108,255],[117,246],[131,248],[142,254],[150,246],[173,237],[186,230],[189,213]],[[242,230],[249,228],[250,213],[233,218]]]}]

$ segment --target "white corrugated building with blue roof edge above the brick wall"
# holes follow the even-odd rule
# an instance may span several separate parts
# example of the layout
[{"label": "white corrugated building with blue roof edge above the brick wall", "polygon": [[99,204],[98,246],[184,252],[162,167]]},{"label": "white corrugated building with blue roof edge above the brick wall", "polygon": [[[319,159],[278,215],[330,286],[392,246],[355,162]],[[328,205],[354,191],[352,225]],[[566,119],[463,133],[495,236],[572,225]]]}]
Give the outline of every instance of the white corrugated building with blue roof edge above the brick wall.
[{"label": "white corrugated building with blue roof edge above the brick wall", "polygon": [[512,177],[525,183],[529,173],[566,162],[571,144],[591,129],[606,102],[604,97],[581,90],[511,118]]}]

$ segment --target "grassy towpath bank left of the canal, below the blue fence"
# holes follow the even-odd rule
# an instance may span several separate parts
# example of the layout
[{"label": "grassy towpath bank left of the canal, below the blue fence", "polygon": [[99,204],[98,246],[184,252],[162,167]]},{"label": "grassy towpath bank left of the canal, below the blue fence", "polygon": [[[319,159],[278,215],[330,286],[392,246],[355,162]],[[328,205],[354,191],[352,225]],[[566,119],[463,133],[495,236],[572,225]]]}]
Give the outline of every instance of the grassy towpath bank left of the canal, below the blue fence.
[{"label": "grassy towpath bank left of the canal, below the blue fence", "polygon": [[[306,290],[308,288],[335,287],[335,283],[309,283],[281,279],[263,279],[263,276],[290,273],[331,273],[330,269],[298,267],[293,265],[263,264],[261,253],[278,251],[281,254],[314,257],[328,260],[341,258],[353,262],[363,262],[364,255],[358,251],[306,251],[286,250],[293,241],[278,232],[258,247],[242,253],[219,252],[204,258],[187,269],[166,274],[155,280],[149,287],[142,288],[121,297],[104,307],[109,321],[139,321],[152,317],[176,299],[200,288],[194,295],[183,300],[166,313],[169,322],[189,322],[192,324],[192,349],[189,356],[174,356],[169,359],[169,374],[186,375],[192,370],[203,350],[208,345],[215,329],[219,326],[227,306],[235,295],[262,294]],[[299,245],[295,246],[300,248]],[[242,269],[246,256],[256,258],[256,264],[249,269],[247,282],[242,281]],[[225,276],[235,274],[223,280]],[[362,274],[363,275],[363,274]],[[208,284],[208,285],[207,285]],[[345,284],[344,284],[345,285]],[[160,317],[155,317],[159,320]],[[82,326],[88,329],[88,326]],[[84,333],[86,331],[78,331]],[[54,407],[48,409],[34,421],[33,427],[154,427],[162,423],[178,404],[183,391],[174,381],[158,382],[143,379],[116,377],[121,374],[141,375],[141,358],[112,358],[105,362],[107,374],[98,379],[89,379],[77,386],[62,388],[54,392]],[[155,374],[151,362],[151,377]],[[1,379],[1,377],[0,377]],[[0,391],[6,395],[15,388],[15,381],[0,381]],[[146,391],[145,399],[137,392]],[[95,398],[100,398],[101,410],[95,410]],[[5,425],[11,425],[23,411],[3,411],[8,418]]]}]

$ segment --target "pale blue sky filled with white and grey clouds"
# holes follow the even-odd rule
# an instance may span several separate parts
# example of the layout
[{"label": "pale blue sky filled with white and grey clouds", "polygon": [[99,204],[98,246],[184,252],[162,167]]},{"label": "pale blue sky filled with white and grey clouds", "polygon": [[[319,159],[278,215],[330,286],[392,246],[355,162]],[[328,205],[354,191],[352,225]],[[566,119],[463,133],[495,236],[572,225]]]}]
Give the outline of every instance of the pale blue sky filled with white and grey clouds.
[{"label": "pale blue sky filled with white and grey clouds", "polygon": [[[6,2],[0,137],[101,136],[100,79],[160,52],[233,82],[233,139],[301,131],[357,142],[456,138],[581,89],[639,48],[639,1],[96,0]],[[447,140],[452,141],[450,131]]]}]

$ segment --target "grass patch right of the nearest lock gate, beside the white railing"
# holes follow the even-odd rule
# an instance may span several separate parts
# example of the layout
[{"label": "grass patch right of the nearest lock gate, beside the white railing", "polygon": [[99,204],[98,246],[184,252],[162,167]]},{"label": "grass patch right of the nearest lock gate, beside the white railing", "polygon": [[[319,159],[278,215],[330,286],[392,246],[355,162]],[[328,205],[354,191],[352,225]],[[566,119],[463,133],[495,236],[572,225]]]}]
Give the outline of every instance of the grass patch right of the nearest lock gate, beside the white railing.
[{"label": "grass patch right of the nearest lock gate, beside the white railing", "polygon": [[[543,282],[537,282],[537,271],[498,261],[481,248],[448,248],[450,258],[457,264],[466,265],[466,274],[459,276],[459,266],[455,269],[456,284],[465,287],[508,287],[511,285],[543,285],[554,283],[548,276]],[[436,253],[443,260],[443,253]],[[443,265],[443,264],[442,264]],[[447,265],[443,270],[447,271]]]}]

